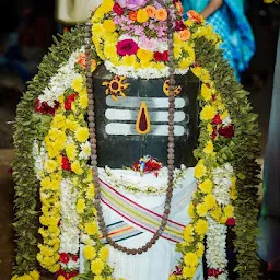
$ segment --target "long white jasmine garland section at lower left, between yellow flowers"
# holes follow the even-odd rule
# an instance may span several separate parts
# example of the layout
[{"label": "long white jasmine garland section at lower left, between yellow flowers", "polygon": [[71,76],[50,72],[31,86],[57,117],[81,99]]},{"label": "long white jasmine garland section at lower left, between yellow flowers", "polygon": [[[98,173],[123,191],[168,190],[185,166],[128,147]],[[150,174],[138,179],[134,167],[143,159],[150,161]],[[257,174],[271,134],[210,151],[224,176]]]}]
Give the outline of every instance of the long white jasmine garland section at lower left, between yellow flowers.
[{"label": "long white jasmine garland section at lower left, between yellow flowers", "polygon": [[[78,255],[79,253],[79,215],[77,213],[77,189],[70,179],[62,179],[60,184],[60,247],[59,253]],[[61,264],[62,266],[62,264]],[[79,261],[70,259],[63,265],[68,269],[78,269]]]}]

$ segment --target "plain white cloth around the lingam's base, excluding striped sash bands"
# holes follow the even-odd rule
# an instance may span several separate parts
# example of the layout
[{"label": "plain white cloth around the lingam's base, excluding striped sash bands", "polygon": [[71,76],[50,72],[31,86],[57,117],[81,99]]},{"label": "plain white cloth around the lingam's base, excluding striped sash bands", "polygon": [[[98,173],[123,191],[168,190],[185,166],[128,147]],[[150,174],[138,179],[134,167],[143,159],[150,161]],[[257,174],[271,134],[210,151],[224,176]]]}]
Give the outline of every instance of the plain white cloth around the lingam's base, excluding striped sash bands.
[{"label": "plain white cloth around the lingam's base, excluding striped sash bands", "polygon": [[[196,180],[194,178],[194,168],[189,168],[182,183],[183,187],[176,188],[174,191],[171,219],[182,224],[188,224],[190,218],[188,217],[188,206],[191,201],[192,192],[196,189]],[[121,191],[129,199],[137,201],[141,206],[162,213],[164,211],[165,195],[162,196],[147,196],[133,195],[127,191]],[[116,212],[103,205],[103,212],[106,224],[125,221],[132,226],[133,223],[119,217]],[[141,228],[139,230],[143,231]],[[144,232],[138,236],[126,241],[118,242],[122,246],[129,248],[139,248],[150,241],[152,234]],[[182,254],[175,252],[176,244],[164,238],[160,238],[158,243],[147,253],[137,256],[128,256],[121,252],[109,247],[109,265],[114,268],[115,279],[125,278],[126,280],[167,280],[171,272],[175,270],[178,259]],[[83,245],[81,245],[82,252]],[[83,256],[81,254],[80,270],[83,271]],[[203,280],[202,264],[199,265],[195,280]]]}]

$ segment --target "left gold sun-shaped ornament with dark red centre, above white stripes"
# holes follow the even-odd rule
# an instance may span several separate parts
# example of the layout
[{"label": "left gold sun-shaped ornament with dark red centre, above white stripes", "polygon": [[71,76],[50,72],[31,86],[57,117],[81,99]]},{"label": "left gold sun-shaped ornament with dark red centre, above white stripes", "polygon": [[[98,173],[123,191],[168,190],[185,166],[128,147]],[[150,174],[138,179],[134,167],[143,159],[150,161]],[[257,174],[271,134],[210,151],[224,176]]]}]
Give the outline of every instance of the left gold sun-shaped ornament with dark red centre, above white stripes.
[{"label": "left gold sun-shaped ornament with dark red centre, above white stripes", "polygon": [[126,83],[126,77],[115,75],[109,82],[103,82],[102,85],[107,86],[105,93],[106,95],[110,95],[114,101],[118,101],[118,96],[125,97],[126,94],[124,90],[126,90],[129,83]]}]

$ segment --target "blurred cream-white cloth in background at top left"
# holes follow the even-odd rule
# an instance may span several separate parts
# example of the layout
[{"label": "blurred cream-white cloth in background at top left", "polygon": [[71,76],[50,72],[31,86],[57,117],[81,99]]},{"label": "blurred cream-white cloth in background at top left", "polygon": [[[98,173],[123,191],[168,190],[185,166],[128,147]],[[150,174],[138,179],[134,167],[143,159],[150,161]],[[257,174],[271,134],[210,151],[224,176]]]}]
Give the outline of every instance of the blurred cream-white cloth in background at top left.
[{"label": "blurred cream-white cloth in background at top left", "polygon": [[65,24],[84,23],[103,0],[57,0],[57,20]]}]

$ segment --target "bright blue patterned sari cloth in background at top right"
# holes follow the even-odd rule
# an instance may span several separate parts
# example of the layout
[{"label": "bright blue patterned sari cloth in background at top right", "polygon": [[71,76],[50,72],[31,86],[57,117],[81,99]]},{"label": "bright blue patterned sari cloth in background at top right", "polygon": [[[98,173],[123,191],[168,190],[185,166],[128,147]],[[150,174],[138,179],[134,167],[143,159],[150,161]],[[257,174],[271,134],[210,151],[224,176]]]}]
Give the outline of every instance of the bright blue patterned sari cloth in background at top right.
[{"label": "bright blue patterned sari cloth in background at top right", "polygon": [[[210,0],[183,0],[184,10],[201,13]],[[244,0],[224,0],[223,5],[207,19],[223,39],[221,49],[236,77],[243,72],[255,54],[255,38],[245,16]]]}]

